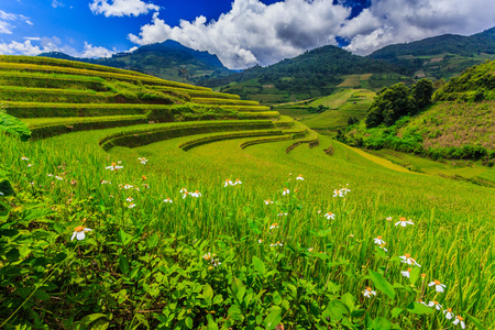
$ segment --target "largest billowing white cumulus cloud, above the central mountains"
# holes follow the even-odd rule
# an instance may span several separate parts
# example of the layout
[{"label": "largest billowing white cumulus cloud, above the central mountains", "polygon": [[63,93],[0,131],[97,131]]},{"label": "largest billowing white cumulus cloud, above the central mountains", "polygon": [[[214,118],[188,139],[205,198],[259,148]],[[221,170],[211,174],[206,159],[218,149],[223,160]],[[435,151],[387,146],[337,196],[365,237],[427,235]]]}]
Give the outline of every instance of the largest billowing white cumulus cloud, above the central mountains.
[{"label": "largest billowing white cumulus cloud, above the central mountains", "polygon": [[153,14],[152,22],[129,40],[139,45],[175,40],[183,45],[217,54],[229,68],[270,65],[307,50],[336,44],[350,9],[331,0],[286,0],[265,6],[258,0],[235,0],[216,21],[205,16],[170,26]]}]

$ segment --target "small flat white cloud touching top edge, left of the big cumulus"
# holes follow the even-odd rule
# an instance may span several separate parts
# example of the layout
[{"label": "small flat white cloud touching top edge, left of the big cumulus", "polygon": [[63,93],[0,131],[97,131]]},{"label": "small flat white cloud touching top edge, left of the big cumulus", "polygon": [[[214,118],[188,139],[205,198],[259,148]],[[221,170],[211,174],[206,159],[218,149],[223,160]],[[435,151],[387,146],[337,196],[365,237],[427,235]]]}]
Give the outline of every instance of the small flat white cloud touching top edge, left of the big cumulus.
[{"label": "small flat white cloud touching top edge, left of the big cumulus", "polygon": [[[108,1],[111,1],[109,3]],[[139,16],[150,11],[158,11],[160,7],[141,0],[94,0],[89,9],[95,14],[109,16]]]}]

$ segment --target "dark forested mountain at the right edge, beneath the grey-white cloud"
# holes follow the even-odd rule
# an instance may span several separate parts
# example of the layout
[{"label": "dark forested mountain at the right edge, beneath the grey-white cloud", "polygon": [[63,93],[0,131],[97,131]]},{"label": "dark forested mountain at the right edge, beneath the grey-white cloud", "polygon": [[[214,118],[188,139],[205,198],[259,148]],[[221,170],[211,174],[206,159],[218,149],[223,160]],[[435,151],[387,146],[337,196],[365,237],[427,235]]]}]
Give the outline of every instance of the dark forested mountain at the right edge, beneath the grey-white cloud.
[{"label": "dark forested mountain at the right edge, beneath the grey-white cloud", "polygon": [[443,34],[405,44],[385,46],[371,58],[415,70],[417,78],[441,79],[495,58],[495,28],[471,36]]}]

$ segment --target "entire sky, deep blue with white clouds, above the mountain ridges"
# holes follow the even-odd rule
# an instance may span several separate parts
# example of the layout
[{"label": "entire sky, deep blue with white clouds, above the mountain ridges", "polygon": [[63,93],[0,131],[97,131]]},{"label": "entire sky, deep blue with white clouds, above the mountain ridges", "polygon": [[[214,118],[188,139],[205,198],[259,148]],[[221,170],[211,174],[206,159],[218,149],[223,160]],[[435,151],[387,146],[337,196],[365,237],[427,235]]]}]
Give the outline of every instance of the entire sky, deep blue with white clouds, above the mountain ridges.
[{"label": "entire sky, deep blue with white clouds, above the mountain ridges", "polygon": [[[328,44],[387,44],[495,25],[492,0],[1,0],[0,54],[103,57],[172,38],[230,68]],[[342,42],[343,41],[343,42]]]}]

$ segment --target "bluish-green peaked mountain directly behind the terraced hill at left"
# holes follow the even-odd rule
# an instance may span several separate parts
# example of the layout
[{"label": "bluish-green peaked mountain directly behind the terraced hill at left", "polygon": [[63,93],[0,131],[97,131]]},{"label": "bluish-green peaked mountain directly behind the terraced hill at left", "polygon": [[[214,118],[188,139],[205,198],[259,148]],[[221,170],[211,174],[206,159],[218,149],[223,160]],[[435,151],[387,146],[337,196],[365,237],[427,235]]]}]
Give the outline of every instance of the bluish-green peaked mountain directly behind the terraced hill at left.
[{"label": "bluish-green peaked mountain directly behind the terraced hill at left", "polygon": [[194,84],[205,77],[222,77],[231,74],[217,55],[194,51],[178,42],[142,46],[131,53],[114,54],[110,58],[76,58],[64,53],[43,53],[38,56],[100,64],[145,73],[162,79]]}]

